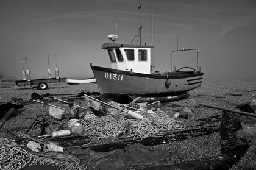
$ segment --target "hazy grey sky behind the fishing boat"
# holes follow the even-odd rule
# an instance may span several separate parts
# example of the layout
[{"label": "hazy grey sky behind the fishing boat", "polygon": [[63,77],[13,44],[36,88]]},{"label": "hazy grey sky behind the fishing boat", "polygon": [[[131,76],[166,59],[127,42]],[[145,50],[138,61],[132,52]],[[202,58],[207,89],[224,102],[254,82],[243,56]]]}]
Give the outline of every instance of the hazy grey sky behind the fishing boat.
[{"label": "hazy grey sky behind the fishing boat", "polygon": [[[110,67],[108,35],[129,44],[140,18],[154,70],[169,71],[172,51],[197,48],[204,79],[256,82],[255,0],[0,0],[0,74],[43,78],[50,68],[55,77],[57,66],[60,77],[94,77],[90,63]],[[196,51],[176,53],[176,69],[195,68]]]}]

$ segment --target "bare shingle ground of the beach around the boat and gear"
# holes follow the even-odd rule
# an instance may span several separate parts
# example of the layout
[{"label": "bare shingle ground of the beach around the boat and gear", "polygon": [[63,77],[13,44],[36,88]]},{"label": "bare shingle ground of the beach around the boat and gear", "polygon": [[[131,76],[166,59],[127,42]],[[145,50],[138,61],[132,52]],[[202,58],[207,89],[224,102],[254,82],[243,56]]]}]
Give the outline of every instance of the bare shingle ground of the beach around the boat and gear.
[{"label": "bare shingle ground of the beach around the boat and gear", "polygon": [[[12,115],[5,121],[4,125],[0,129],[0,138],[8,138],[13,140],[17,132],[26,132],[30,124],[32,124],[33,119],[26,118],[36,118],[38,114],[48,115],[47,110],[42,104],[38,104],[31,100],[31,94],[52,94],[60,99],[73,99],[75,104],[81,102],[82,106],[85,106],[83,97],[74,97],[75,94],[81,92],[99,92],[97,84],[81,84],[81,85],[66,85],[65,83],[51,84],[48,86],[48,90],[37,90],[31,87],[15,87],[13,82],[0,82],[0,104],[5,104],[10,102],[12,104],[24,105],[23,108],[16,109],[13,111]],[[203,121],[204,118],[210,118],[212,116],[221,116],[222,110],[217,110],[213,108],[199,107],[199,104],[215,105],[218,107],[230,108],[237,110],[236,105],[250,102],[253,97],[250,90],[256,90],[256,82],[241,82],[236,80],[204,80],[201,87],[190,91],[191,96],[187,99],[173,102],[163,103],[161,108],[163,111],[168,113],[170,117],[173,116],[173,110],[179,110],[179,108],[187,107],[193,112],[193,118],[182,119],[176,118],[177,121],[182,121],[185,129],[190,130],[199,127],[212,127],[218,128],[220,121],[215,121],[211,123],[206,123]],[[208,94],[212,96],[224,96],[225,98],[216,98],[212,96],[207,96],[204,98],[193,97],[198,94]],[[66,98],[65,98],[66,97]],[[13,99],[20,99],[21,102],[14,102]],[[57,105],[68,109],[68,105],[58,103],[54,99],[44,97],[51,101],[51,104]],[[4,111],[7,112],[7,111]],[[0,112],[3,114],[3,111]],[[255,119],[255,118],[252,118]],[[54,119],[53,122],[59,122]],[[62,120],[65,123],[64,128],[67,128],[65,119]],[[243,128],[255,127],[251,124],[243,124]],[[57,129],[58,125],[51,124],[46,128],[46,133],[51,134],[52,129]],[[174,130],[174,132],[181,131]],[[39,128],[30,130],[28,135],[35,135],[40,133]],[[171,157],[167,158],[165,161],[159,163],[158,165],[173,165],[183,161],[191,160],[201,160],[203,158],[215,157],[221,154],[221,144],[219,133],[212,133],[210,135],[198,136],[193,138],[188,138],[186,140],[180,141],[169,141],[168,143],[159,144],[151,146],[153,149],[165,148],[172,153]],[[250,143],[250,147],[247,150],[244,157],[232,166],[232,170],[235,169],[255,169],[256,160],[256,145],[255,143]],[[152,165],[156,166],[156,165]],[[147,166],[148,167],[148,166]],[[129,169],[142,169],[146,166],[129,167]]]}]

